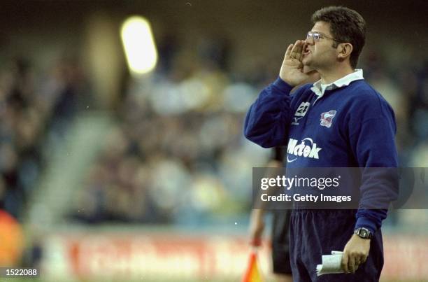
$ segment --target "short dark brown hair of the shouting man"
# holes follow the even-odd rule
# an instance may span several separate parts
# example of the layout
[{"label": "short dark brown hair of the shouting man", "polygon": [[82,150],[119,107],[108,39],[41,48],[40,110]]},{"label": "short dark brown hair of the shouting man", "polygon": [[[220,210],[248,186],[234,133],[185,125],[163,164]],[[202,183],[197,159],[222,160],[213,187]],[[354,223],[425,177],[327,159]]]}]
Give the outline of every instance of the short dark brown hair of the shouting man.
[{"label": "short dark brown hair of the shouting man", "polygon": [[[312,22],[328,22],[334,39],[352,44],[350,65],[357,67],[358,57],[366,42],[366,22],[355,10],[343,6],[330,6],[317,10],[312,15]],[[334,41],[333,47],[338,43]]]}]

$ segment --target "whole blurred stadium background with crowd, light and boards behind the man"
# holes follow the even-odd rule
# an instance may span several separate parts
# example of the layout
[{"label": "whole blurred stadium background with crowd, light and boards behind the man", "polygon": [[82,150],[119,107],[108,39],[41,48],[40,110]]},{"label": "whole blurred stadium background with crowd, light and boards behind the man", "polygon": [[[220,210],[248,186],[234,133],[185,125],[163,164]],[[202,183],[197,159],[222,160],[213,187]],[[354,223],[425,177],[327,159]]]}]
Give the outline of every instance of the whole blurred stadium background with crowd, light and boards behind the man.
[{"label": "whole blurred stadium background with crowd, light and boards behind the man", "polygon": [[[334,4],[367,22],[359,68],[394,108],[400,165],[427,167],[426,1],[1,1],[0,265],[239,281],[271,155],[245,112]],[[428,211],[392,211],[384,234],[382,281],[428,281]]]}]

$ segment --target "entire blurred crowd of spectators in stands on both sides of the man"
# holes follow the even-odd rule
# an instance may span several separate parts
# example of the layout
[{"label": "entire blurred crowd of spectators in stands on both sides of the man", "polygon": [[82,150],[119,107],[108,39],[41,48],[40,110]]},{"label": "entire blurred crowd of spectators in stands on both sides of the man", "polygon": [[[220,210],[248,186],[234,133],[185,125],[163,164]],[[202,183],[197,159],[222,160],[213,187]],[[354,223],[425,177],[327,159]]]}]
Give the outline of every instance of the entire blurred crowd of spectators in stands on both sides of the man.
[{"label": "entire blurred crowd of spectators in stands on both sides of the man", "polygon": [[[156,71],[129,78],[70,218],[200,225],[248,214],[252,167],[263,167],[270,150],[245,140],[243,119],[280,62],[260,60],[238,73],[226,40],[179,46],[166,38]],[[428,60],[396,66],[380,54],[365,50],[360,66],[394,108],[400,165],[427,167]],[[1,69],[0,208],[20,216],[50,153],[91,99],[88,85],[73,59],[47,72],[24,59]]]}]

